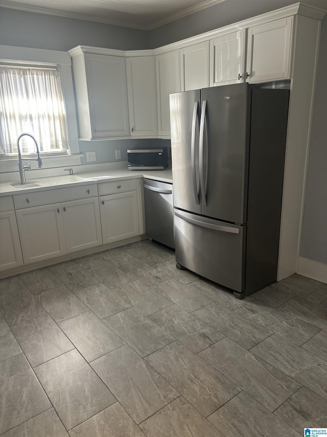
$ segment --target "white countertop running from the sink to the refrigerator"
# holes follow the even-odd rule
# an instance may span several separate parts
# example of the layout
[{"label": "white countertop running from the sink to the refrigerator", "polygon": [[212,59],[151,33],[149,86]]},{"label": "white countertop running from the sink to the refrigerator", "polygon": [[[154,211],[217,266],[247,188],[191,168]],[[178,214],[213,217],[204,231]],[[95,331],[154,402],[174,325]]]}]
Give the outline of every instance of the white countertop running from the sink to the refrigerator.
[{"label": "white countertop running from the sink to the refrigerator", "polygon": [[[89,169],[89,167],[88,167]],[[128,169],[115,169],[115,170],[101,170],[95,172],[85,172],[79,173],[82,170],[81,167],[78,168],[78,172],[74,173],[74,176],[78,177],[78,180],[70,177],[68,174],[62,174],[58,176],[51,177],[42,177],[29,179],[29,182],[35,182],[37,185],[18,185],[13,186],[13,183],[16,182],[2,182],[0,183],[0,196],[10,196],[13,194],[32,192],[32,191],[43,191],[43,190],[51,190],[55,188],[59,188],[62,186],[74,186],[76,184],[87,184],[87,183],[101,183],[101,182],[109,182],[119,179],[135,179],[135,178],[149,178],[154,180],[159,180],[161,182],[170,182],[172,183],[172,169],[168,168],[167,170],[153,170],[153,171],[141,171],[141,170],[131,170]]]}]

